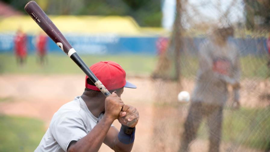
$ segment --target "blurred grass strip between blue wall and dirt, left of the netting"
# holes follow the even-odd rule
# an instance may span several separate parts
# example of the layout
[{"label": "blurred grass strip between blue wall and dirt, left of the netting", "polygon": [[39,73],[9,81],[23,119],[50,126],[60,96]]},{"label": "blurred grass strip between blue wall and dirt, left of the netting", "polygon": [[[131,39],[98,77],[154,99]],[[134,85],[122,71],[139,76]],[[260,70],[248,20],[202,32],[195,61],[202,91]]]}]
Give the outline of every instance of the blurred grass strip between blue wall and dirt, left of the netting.
[{"label": "blurred grass strip between blue wall and dirt, left of the netting", "polygon": [[[154,56],[145,55],[84,55],[81,56],[86,65],[99,61],[115,61],[118,62],[127,74],[149,74],[155,67],[156,58]],[[38,64],[35,55],[29,55],[27,64],[19,67],[16,64],[14,55],[0,54],[0,73],[2,74],[80,74],[82,71],[67,56],[60,54],[50,54],[47,56],[48,62],[44,66]]]}]

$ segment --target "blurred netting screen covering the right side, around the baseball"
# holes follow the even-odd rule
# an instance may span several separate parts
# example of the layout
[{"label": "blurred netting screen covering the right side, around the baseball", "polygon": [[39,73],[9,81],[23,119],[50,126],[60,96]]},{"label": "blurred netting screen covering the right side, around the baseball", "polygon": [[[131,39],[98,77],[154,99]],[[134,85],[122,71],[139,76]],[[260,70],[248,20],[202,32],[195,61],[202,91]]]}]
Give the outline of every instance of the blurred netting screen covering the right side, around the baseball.
[{"label": "blurred netting screen covering the right side, around the baseball", "polygon": [[[152,73],[153,148],[269,151],[269,2],[176,3]],[[183,90],[189,103],[177,102]]]}]

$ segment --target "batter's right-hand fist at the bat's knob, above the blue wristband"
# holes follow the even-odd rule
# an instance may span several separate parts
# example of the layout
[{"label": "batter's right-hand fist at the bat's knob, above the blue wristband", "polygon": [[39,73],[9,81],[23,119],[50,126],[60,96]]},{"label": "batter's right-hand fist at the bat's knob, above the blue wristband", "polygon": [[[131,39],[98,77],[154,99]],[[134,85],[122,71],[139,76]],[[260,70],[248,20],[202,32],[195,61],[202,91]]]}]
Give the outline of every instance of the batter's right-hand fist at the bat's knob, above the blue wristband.
[{"label": "batter's right-hand fist at the bat's knob, above the blue wristband", "polygon": [[139,118],[139,112],[135,107],[130,105],[124,105],[122,111],[119,113],[118,121],[122,125],[127,125],[127,122],[131,122],[132,120],[137,119],[136,124],[134,124],[133,126],[129,126],[133,128],[137,125]]}]

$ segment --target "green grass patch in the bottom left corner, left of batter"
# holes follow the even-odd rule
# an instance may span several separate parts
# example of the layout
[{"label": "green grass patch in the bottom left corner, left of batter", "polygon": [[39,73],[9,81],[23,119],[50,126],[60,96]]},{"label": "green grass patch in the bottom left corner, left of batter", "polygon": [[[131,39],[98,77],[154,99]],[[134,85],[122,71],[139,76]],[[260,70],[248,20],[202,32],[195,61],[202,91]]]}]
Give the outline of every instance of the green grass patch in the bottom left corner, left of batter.
[{"label": "green grass patch in the bottom left corner, left of batter", "polygon": [[0,116],[0,151],[34,151],[46,130],[37,119]]}]

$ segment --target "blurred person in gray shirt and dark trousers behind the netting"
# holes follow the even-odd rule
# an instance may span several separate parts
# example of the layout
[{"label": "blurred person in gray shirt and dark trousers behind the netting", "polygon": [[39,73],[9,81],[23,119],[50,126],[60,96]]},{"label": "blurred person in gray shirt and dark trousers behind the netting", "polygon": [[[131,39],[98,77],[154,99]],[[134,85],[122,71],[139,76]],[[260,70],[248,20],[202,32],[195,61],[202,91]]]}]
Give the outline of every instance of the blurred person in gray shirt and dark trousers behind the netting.
[{"label": "blurred person in gray shirt and dark trousers behind the netting", "polygon": [[196,86],[191,96],[189,113],[184,124],[180,151],[188,151],[195,139],[202,118],[209,127],[209,151],[219,151],[221,140],[222,111],[228,96],[227,86],[234,88],[235,108],[239,108],[239,53],[234,44],[228,42],[233,28],[220,28],[199,49],[199,71]]}]

